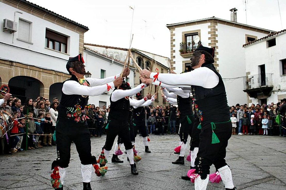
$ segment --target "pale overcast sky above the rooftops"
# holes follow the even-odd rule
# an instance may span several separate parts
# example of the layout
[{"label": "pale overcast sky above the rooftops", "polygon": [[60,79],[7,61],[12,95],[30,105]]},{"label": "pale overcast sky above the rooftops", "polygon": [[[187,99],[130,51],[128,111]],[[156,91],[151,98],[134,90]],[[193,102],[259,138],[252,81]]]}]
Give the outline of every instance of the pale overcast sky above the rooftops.
[{"label": "pale overcast sky above the rooftops", "polygon": [[[230,20],[237,8],[237,22],[246,24],[245,0],[29,0],[63,17],[88,26],[84,42],[129,48],[134,8],[132,47],[170,57],[170,31],[173,24],[208,17]],[[246,0],[247,24],[269,30],[282,30],[277,0]],[[278,0],[283,28],[286,29],[286,0]]]}]

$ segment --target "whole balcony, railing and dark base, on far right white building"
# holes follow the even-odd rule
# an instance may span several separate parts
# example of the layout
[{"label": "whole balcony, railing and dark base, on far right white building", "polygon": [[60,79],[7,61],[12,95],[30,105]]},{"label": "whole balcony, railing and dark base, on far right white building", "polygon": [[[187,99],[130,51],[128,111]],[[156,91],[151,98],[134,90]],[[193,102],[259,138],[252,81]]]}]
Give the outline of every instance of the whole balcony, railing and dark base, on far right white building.
[{"label": "whole balcony, railing and dark base, on far right white building", "polygon": [[272,74],[261,73],[243,77],[243,91],[252,98],[256,98],[259,93],[270,96],[273,89]]}]

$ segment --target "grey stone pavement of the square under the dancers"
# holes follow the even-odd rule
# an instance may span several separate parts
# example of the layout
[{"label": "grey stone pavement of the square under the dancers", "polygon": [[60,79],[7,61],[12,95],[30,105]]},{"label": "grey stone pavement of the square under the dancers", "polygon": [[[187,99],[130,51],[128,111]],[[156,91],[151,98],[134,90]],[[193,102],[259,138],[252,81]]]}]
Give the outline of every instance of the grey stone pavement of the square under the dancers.
[{"label": "grey stone pavement of the square under the dancers", "polygon": [[[120,156],[124,163],[113,164],[108,158],[108,172],[104,177],[92,175],[93,189],[194,189],[190,181],[180,179],[190,167],[174,165],[178,158],[173,149],[178,145],[178,135],[150,135],[145,153],[142,138],[137,136],[136,150],[142,156],[137,164],[139,175],[132,175],[126,154]],[[92,154],[98,156],[105,136],[91,138]],[[124,147],[122,146],[124,150]],[[231,167],[237,189],[286,189],[286,138],[279,136],[233,135],[227,147],[227,163]],[[0,155],[0,190],[52,189],[50,185],[51,162],[56,158],[56,147]],[[64,189],[82,189],[80,160],[72,144],[71,162],[67,168]],[[211,167],[211,172],[215,168]],[[209,183],[207,189],[224,189],[223,183]]]}]

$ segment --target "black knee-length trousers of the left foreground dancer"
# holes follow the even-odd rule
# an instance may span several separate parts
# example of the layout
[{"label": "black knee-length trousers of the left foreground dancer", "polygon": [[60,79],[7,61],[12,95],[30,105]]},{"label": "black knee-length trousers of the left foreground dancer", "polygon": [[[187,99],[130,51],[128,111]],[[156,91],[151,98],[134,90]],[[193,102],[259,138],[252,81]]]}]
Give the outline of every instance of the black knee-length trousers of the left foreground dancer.
[{"label": "black knee-length trousers of the left foreground dancer", "polygon": [[66,120],[59,120],[56,126],[57,165],[68,167],[71,157],[71,143],[74,141],[80,161],[83,165],[96,163],[91,155],[90,132],[87,123],[77,124]]}]

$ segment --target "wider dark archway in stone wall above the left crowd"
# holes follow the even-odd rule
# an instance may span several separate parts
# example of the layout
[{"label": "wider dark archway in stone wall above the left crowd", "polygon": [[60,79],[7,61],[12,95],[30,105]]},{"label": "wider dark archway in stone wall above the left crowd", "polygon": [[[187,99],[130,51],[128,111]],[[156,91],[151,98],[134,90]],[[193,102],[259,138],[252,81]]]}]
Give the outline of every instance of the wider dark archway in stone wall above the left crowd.
[{"label": "wider dark archway in stone wall above the left crowd", "polygon": [[22,104],[26,98],[37,99],[44,95],[44,85],[38,79],[26,76],[17,76],[9,80],[8,86],[13,96],[21,99]]}]

